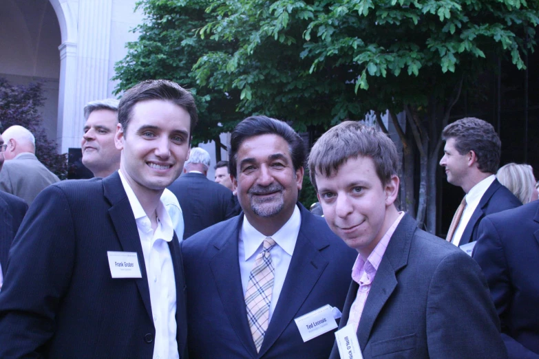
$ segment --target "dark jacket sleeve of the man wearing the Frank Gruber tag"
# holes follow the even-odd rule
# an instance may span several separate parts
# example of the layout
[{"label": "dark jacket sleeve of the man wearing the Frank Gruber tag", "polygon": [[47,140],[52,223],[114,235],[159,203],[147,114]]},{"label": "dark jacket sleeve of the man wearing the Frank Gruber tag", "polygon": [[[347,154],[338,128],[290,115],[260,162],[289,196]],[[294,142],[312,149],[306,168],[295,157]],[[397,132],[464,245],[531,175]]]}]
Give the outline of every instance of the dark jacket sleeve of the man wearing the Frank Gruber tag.
[{"label": "dark jacket sleeve of the man wearing the Frank Gruber tag", "polygon": [[65,194],[49,186],[15,237],[0,292],[0,358],[40,358],[74,265],[74,226]]}]

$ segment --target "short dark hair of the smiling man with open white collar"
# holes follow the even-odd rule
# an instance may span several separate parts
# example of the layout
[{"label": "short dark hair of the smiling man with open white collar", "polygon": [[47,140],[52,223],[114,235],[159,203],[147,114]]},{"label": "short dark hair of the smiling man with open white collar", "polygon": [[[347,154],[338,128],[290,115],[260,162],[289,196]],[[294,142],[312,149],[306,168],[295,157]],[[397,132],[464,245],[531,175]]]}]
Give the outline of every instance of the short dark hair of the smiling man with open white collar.
[{"label": "short dark hair of the smiling man with open white collar", "polygon": [[125,91],[118,105],[118,122],[122,125],[123,131],[127,130],[134,105],[146,100],[165,100],[182,107],[189,113],[191,119],[189,134],[193,134],[198,122],[195,99],[189,91],[169,80],[145,80]]}]

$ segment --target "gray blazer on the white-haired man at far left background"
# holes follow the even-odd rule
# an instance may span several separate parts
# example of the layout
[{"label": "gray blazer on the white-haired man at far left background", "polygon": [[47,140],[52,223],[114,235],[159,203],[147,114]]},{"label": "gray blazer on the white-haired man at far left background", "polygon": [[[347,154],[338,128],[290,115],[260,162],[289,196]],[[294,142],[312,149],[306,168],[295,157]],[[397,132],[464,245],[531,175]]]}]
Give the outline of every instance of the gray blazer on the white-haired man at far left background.
[{"label": "gray blazer on the white-haired man at far left background", "polygon": [[16,195],[30,206],[43,188],[59,181],[33,153],[21,153],[13,160],[3,163],[0,191]]}]

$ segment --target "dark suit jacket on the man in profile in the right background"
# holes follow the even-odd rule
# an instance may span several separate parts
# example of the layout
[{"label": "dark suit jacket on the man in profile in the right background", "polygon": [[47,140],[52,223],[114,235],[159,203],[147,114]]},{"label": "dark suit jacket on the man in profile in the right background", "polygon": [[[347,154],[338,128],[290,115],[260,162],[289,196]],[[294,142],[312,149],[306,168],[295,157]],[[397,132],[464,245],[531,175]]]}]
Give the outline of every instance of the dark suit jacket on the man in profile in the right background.
[{"label": "dark suit jacket on the man in profile in the right background", "polygon": [[477,228],[479,222],[487,215],[492,213],[498,213],[503,210],[516,208],[522,206],[522,202],[518,200],[515,195],[498,182],[498,179],[494,179],[494,182],[489,186],[487,192],[481,197],[479,204],[474,210],[472,217],[469,219],[466,228],[464,228],[463,237],[458,243],[458,246],[470,243],[477,240]]}]

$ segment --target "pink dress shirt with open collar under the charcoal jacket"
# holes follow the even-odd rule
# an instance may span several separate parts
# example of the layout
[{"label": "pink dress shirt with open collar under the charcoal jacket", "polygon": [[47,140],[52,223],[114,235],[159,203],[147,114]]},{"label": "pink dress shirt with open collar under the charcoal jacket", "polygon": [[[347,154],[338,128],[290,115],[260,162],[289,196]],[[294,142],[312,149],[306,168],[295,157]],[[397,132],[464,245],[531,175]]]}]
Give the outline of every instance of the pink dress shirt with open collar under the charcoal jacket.
[{"label": "pink dress shirt with open collar under the charcoal jacket", "polygon": [[395,232],[395,229],[397,229],[397,226],[399,226],[403,217],[404,212],[399,213],[399,217],[395,219],[377,246],[374,247],[374,250],[372,250],[367,258],[367,261],[363,261],[361,254],[358,254],[354,267],[352,267],[352,279],[359,284],[359,288],[357,290],[356,300],[352,303],[352,307],[350,307],[350,316],[348,316],[348,323],[346,324],[354,325],[355,331],[357,331],[361,313],[363,313],[363,308],[365,307],[365,302],[367,301],[367,296],[370,292],[370,285],[372,281],[374,281],[374,276],[376,276],[376,272],[382,261],[385,248],[388,248],[391,236]]}]

